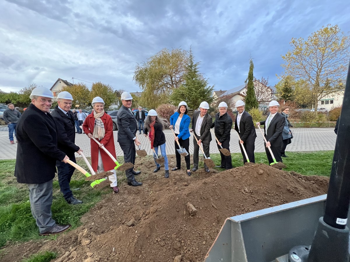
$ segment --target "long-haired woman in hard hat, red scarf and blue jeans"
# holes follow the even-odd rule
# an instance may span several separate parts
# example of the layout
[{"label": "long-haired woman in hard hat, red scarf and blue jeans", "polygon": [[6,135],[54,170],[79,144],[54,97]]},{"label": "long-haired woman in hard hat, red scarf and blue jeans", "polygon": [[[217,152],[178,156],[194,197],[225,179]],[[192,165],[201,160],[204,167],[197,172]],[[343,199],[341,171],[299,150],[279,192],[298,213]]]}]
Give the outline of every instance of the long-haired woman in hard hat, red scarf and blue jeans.
[{"label": "long-haired woman in hard hat, red scarf and blue jeans", "polygon": [[[156,155],[158,155],[158,148],[162,157],[164,158],[164,169],[165,169],[165,178],[169,178],[169,166],[168,166],[168,157],[165,151],[165,134],[163,133],[163,128],[165,127],[165,122],[163,119],[158,117],[157,112],[154,109],[149,110],[148,117],[145,122],[145,134],[149,141],[151,141],[151,148],[154,148]],[[156,168],[153,170],[153,173],[156,173],[160,169],[160,164],[155,160],[156,155],[153,154],[154,162]]]}]

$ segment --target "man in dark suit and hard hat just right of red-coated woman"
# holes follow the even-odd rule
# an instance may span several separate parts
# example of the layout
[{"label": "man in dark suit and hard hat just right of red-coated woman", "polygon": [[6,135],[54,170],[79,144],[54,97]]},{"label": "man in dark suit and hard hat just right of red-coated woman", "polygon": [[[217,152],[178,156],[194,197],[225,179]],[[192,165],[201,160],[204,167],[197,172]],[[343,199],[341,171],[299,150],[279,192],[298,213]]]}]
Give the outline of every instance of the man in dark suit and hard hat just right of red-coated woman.
[{"label": "man in dark suit and hard hat just right of red-coated woman", "polygon": [[[135,164],[136,146],[140,145],[139,139],[136,138],[136,118],[131,111],[132,96],[128,92],[121,94],[121,103],[123,104],[118,111],[117,123],[118,123],[118,143],[121,150],[124,152],[124,162],[131,162]],[[134,168],[125,170],[126,178],[128,179],[128,185],[138,186],[142,185],[141,182],[135,180],[135,175],[140,174],[141,171],[135,171]]]}]

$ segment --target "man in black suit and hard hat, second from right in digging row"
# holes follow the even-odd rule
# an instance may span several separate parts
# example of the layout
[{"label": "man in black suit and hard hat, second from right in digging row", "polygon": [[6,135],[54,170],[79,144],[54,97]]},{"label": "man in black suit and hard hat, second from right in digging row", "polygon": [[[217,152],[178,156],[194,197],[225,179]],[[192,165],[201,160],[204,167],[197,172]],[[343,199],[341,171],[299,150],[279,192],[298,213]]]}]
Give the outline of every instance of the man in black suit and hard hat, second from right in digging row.
[{"label": "man in black suit and hard hat, second from right in digging row", "polygon": [[244,146],[247,152],[249,161],[255,163],[254,150],[255,150],[255,138],[257,133],[255,132],[254,123],[252,116],[244,110],[245,103],[242,100],[236,102],[237,115],[235,121],[235,130],[238,132],[241,141],[238,141],[242,155],[243,162],[247,162],[242,146]]}]

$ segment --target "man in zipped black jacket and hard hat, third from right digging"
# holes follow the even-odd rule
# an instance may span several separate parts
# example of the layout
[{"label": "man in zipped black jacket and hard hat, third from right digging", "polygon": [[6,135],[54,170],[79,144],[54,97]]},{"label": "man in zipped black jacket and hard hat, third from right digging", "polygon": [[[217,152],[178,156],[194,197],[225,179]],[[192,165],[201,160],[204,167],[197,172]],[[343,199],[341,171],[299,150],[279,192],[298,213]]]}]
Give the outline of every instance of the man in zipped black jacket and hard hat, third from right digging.
[{"label": "man in zipped black jacket and hard hat, third from right digging", "polygon": [[[222,148],[226,148],[230,151],[230,139],[231,139],[231,128],[232,128],[232,118],[227,113],[227,104],[225,102],[219,103],[218,109],[219,112],[215,115],[215,122],[212,125],[215,126],[214,132],[216,138],[219,140],[218,142],[218,149],[221,148],[219,145],[222,146]],[[220,157],[221,157],[221,163],[219,166],[225,169],[231,169],[232,168],[232,158],[231,154],[226,156],[220,151]]]}]

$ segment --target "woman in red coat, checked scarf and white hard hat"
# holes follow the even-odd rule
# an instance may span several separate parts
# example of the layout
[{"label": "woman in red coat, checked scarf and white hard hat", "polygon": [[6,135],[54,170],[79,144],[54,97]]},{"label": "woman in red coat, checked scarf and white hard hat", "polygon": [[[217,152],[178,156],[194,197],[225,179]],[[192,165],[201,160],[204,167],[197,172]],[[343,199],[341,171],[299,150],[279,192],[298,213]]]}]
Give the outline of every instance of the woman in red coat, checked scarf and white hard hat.
[{"label": "woman in red coat, checked scarf and white hard hat", "polygon": [[[84,133],[89,138],[94,137],[104,146],[114,158],[116,158],[116,148],[114,147],[113,137],[113,122],[112,118],[103,110],[105,102],[99,96],[95,97],[91,103],[93,110],[88,115],[83,123]],[[90,140],[91,148],[91,166],[95,172],[110,171],[113,175],[108,178],[112,181],[111,187],[114,192],[118,193],[117,175],[114,167],[116,163],[107,155],[107,153],[99,148],[99,145],[93,140]]]}]

